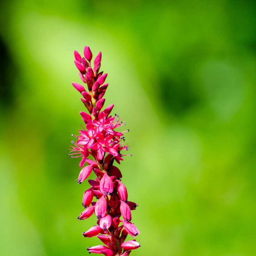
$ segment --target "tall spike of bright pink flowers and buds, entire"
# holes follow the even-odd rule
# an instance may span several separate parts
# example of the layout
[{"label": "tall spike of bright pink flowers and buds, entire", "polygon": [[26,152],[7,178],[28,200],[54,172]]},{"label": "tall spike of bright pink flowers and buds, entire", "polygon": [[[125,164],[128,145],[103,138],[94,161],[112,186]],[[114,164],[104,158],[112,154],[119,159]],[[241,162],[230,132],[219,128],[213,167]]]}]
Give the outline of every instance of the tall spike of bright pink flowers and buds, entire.
[{"label": "tall spike of bright pink flowers and buds, entire", "polygon": [[[95,180],[88,180],[90,188],[84,192],[82,201],[85,210],[78,219],[87,219],[93,214],[97,218],[97,225],[84,232],[83,236],[97,236],[105,245],[88,247],[89,253],[127,256],[131,250],[140,247],[136,240],[125,242],[128,234],[133,238],[140,234],[131,222],[131,210],[135,210],[137,204],[128,201],[126,186],[121,182],[121,171],[113,164],[114,161],[120,164],[125,156],[122,152],[129,150],[124,137],[124,133],[129,130],[115,130],[125,126],[125,122],[116,114],[110,115],[113,104],[102,110],[105,102],[103,96],[108,83],[104,83],[107,74],[99,72],[101,52],[94,59],[93,67],[92,53],[88,46],[84,48],[84,57],[76,51],[74,55],[75,65],[80,71],[79,76],[87,85],[88,91],[81,84],[73,82],[72,85],[81,93],[81,101],[89,114],[80,112],[85,128],[81,125],[79,134],[72,135],[76,141],[71,141],[69,155],[72,158],[82,158],[79,164],[82,168],[78,176],[79,184],[86,180],[92,171],[96,175]],[[84,167],[85,164],[88,165]],[[96,202],[93,202],[94,197]]]}]

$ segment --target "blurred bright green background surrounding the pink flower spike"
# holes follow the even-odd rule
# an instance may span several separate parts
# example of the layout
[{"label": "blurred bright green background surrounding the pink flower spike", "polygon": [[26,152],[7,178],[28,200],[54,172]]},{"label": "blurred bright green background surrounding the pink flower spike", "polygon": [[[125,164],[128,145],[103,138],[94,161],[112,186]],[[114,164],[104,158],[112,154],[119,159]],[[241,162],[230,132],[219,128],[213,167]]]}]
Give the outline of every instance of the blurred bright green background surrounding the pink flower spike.
[{"label": "blurred bright green background surrounding the pink flower spike", "polygon": [[[84,110],[73,51],[109,75],[140,249],[255,255],[254,1],[2,1],[0,255],[87,255],[89,185],[68,156]],[[92,176],[93,177],[93,176]]]}]

